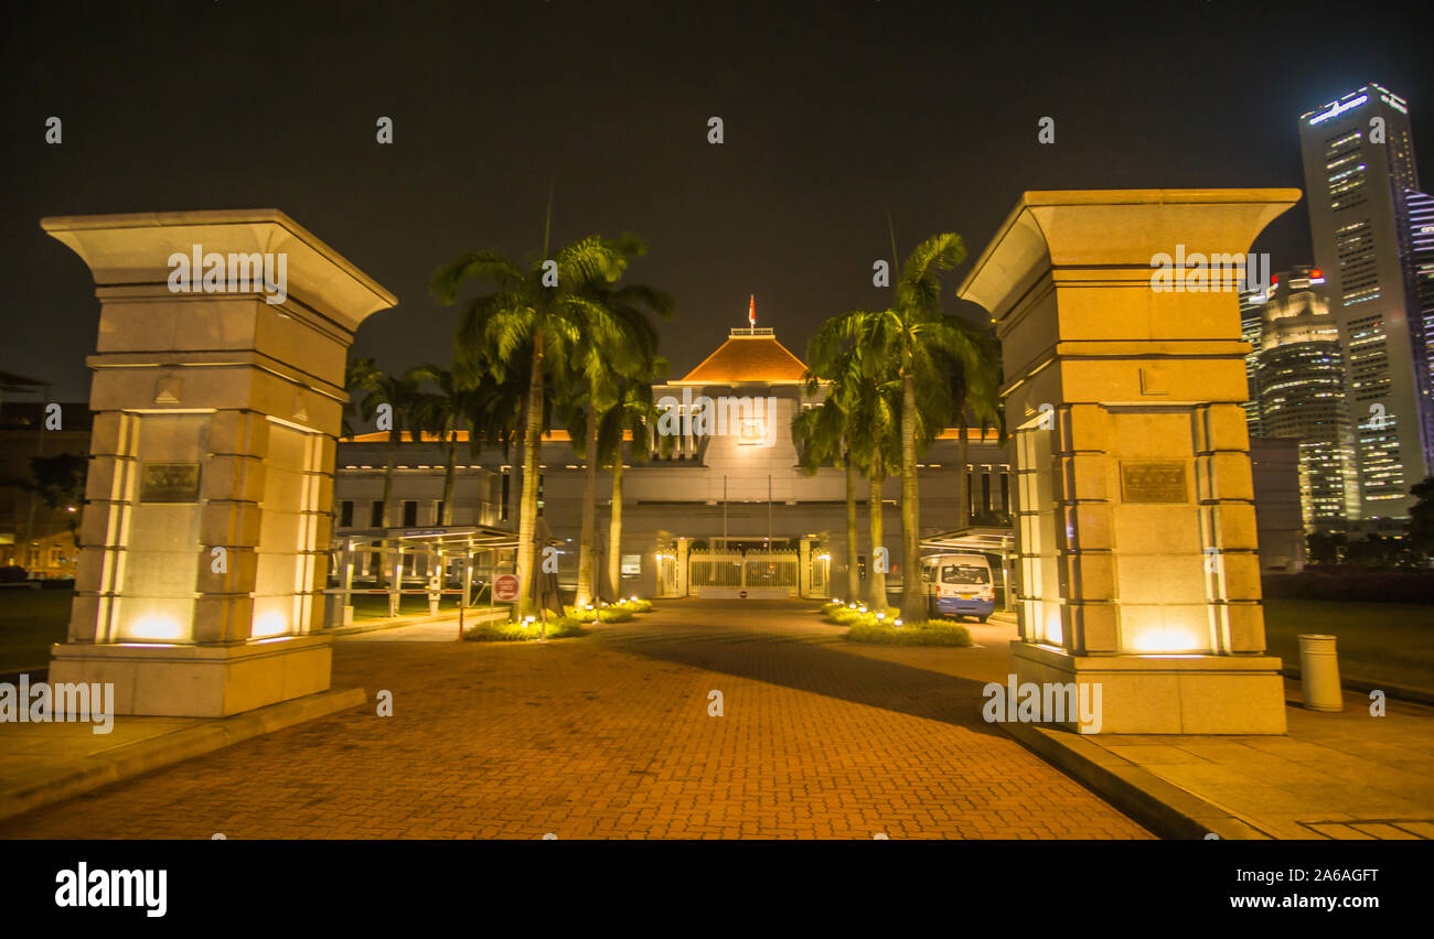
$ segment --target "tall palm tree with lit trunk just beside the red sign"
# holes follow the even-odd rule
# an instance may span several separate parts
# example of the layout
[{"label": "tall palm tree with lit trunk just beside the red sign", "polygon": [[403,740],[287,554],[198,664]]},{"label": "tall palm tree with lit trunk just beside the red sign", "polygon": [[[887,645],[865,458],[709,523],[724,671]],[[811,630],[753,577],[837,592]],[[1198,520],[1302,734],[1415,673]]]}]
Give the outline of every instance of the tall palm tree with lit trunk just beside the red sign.
[{"label": "tall palm tree with lit trunk just beside the red sign", "polygon": [[[630,237],[608,239],[582,238],[521,270],[498,251],[473,251],[442,265],[433,274],[430,290],[445,304],[457,301],[470,280],[492,282],[496,290],[472,300],[460,317],[455,338],[456,364],[486,368],[499,384],[526,367],[528,393],[523,416],[523,483],[518,522],[516,609],[522,615],[531,604],[533,572],[533,536],[538,525],[538,462],[546,417],[545,380],[555,387],[572,387],[568,363],[588,343],[617,343],[608,334],[612,317],[594,300],[594,290],[617,281],[637,252]],[[597,330],[597,333],[594,333]],[[519,360],[522,354],[526,361]]]}]

